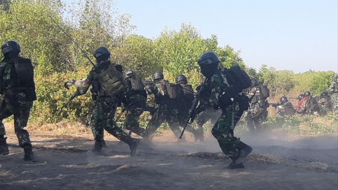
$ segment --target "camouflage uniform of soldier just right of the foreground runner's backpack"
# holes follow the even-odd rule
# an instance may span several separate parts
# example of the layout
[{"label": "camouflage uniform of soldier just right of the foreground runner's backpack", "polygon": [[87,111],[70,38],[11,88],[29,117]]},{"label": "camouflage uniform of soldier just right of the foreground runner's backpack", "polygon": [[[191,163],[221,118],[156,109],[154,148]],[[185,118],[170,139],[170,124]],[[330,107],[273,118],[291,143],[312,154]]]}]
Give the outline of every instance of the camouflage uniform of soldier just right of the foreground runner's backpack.
[{"label": "camouflage uniform of soldier just right of the foreground runner's backpack", "polygon": [[[260,99],[261,92],[260,86],[256,85],[250,87],[250,91],[248,93],[248,97],[250,99],[250,108],[249,111],[245,112],[245,122],[247,123],[248,128],[251,132],[256,130],[262,130],[262,122],[266,120],[267,117],[267,101],[266,99]],[[260,103],[258,102],[261,102]]]}]

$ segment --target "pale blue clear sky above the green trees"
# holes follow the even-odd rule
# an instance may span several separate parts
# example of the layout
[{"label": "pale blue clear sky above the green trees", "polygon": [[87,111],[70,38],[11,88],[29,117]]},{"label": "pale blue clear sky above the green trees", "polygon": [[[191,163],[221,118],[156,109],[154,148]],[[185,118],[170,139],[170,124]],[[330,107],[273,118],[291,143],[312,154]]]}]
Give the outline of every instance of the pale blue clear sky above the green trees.
[{"label": "pale blue clear sky above the green trees", "polygon": [[[71,2],[72,0],[67,0]],[[296,73],[338,70],[336,0],[115,0],[132,14],[136,33],[156,37],[167,25],[191,22],[203,38],[217,34],[219,46],[241,50],[249,67],[261,64]]]}]

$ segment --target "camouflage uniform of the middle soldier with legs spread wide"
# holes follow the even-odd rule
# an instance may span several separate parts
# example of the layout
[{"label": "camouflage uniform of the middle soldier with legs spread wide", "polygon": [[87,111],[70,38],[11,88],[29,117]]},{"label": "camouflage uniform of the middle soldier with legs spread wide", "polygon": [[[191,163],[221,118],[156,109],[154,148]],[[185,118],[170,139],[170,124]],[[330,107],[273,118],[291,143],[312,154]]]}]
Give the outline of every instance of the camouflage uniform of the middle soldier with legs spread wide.
[{"label": "camouflage uniform of the middle soldier with legs spread wide", "polygon": [[177,105],[179,105],[179,102],[177,102],[178,100],[170,99],[169,95],[165,93],[164,86],[167,83],[168,81],[162,79],[156,82],[155,86],[151,87],[152,93],[155,94],[156,104],[158,104],[159,107],[153,117],[151,117],[146,130],[150,134],[153,134],[166,120],[171,131],[174,133],[177,140],[179,140],[181,134],[181,130],[179,129],[180,123],[177,117],[179,113]]}]

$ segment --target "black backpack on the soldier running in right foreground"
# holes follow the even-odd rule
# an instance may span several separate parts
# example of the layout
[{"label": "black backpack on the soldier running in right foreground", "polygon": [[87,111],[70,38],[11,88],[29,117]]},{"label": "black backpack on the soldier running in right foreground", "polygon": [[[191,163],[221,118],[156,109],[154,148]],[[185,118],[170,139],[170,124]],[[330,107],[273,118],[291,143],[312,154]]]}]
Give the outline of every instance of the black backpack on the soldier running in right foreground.
[{"label": "black backpack on the soldier running in right foreground", "polygon": [[[236,99],[241,107],[240,110],[246,110],[249,107],[249,99],[239,97],[239,93],[245,88],[251,86],[251,79],[245,71],[241,70],[239,66],[232,66],[230,69],[221,70],[221,73],[226,77],[228,84],[231,86],[226,92],[220,94],[219,104],[221,107],[232,105],[231,99]],[[222,78],[222,76],[219,76]]]}]

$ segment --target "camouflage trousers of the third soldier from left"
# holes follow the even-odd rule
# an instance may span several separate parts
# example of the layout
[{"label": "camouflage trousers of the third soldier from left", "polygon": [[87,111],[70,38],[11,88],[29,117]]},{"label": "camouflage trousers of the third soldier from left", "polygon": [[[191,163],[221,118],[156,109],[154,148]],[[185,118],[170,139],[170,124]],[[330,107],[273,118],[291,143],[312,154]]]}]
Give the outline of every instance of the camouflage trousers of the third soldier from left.
[{"label": "camouflage trousers of the third soldier from left", "polygon": [[140,115],[143,113],[144,108],[131,106],[127,109],[127,118],[125,121],[125,128],[131,132],[141,136],[146,137],[149,132],[145,129],[140,128],[140,123],[138,122]]}]

